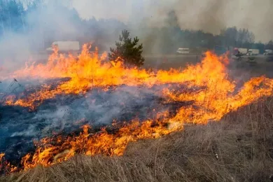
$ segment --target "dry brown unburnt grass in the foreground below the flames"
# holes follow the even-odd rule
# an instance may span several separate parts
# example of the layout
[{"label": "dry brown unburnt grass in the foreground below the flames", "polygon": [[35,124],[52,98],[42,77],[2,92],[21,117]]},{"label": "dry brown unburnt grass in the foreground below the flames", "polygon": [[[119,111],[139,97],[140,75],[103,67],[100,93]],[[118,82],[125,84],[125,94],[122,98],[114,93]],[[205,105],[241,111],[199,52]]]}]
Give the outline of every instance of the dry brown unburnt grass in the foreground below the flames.
[{"label": "dry brown unburnt grass in the foreground below the flames", "polygon": [[270,181],[272,127],[273,100],[266,99],[220,123],[132,143],[123,157],[78,155],[0,181]]}]

